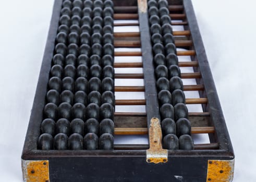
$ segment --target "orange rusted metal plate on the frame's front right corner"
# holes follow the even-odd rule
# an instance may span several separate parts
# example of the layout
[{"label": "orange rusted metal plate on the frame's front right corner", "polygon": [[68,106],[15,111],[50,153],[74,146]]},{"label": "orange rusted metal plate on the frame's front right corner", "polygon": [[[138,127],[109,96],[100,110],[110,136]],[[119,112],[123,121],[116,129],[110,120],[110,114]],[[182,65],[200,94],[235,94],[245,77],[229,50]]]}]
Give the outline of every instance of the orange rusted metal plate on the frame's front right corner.
[{"label": "orange rusted metal plate on the frame's front right corner", "polygon": [[206,181],[232,181],[234,176],[235,160],[208,160]]}]

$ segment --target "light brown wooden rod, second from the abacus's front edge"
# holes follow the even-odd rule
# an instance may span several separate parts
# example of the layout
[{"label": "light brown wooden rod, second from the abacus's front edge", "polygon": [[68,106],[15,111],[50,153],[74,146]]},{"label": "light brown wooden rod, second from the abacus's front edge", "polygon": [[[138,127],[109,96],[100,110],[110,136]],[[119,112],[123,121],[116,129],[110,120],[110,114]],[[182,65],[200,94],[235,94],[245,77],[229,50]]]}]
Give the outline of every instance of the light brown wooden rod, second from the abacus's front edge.
[{"label": "light brown wooden rod, second from the abacus's front edge", "polygon": [[[214,127],[191,127],[191,134],[206,134],[214,133]],[[145,135],[148,134],[147,127],[138,127],[138,128],[124,128],[119,127],[115,128],[115,135]]]}]

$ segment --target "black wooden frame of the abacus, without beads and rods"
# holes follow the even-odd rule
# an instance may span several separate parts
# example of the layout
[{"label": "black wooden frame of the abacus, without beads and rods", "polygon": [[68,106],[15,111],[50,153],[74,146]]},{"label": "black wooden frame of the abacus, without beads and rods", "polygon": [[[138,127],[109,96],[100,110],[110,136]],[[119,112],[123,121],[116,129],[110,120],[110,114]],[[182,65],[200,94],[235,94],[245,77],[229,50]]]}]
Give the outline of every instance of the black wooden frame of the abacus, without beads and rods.
[{"label": "black wooden frame of the abacus, without beads and rods", "polygon": [[[113,2],[115,6],[137,5],[136,0],[114,0]],[[163,181],[166,181],[167,179],[171,181],[179,181],[179,177],[182,177],[185,181],[205,181],[209,180],[209,165],[212,164],[212,161],[231,162],[230,166],[234,167],[235,157],[233,147],[227,131],[220,101],[217,96],[208,59],[205,54],[192,3],[190,0],[175,0],[169,1],[169,5],[184,6],[183,14],[186,15],[185,21],[188,22],[188,24],[184,25],[184,28],[185,30],[190,31],[192,40],[190,48],[195,53],[191,55],[191,59],[198,62],[198,67],[193,68],[195,72],[201,73],[201,78],[197,79],[197,83],[204,85],[204,89],[200,90],[199,94],[200,97],[208,98],[208,103],[202,105],[203,111],[208,113],[205,118],[207,118],[209,124],[215,128],[214,133],[209,134],[209,138],[211,143],[218,143],[218,149],[188,151],[168,150],[168,162],[160,164],[151,164],[146,161],[147,146],[144,147],[145,149],[143,150],[38,150],[37,139],[40,135],[40,124],[43,118],[42,111],[45,105],[45,95],[51,69],[54,41],[57,34],[58,20],[62,6],[62,0],[55,0],[38,86],[36,88],[25,145],[22,152],[22,161],[48,161],[48,175],[51,181],[83,181],[85,179],[97,181],[103,178],[105,181],[136,181],[142,179],[147,179],[147,181],[154,181],[156,179]],[[144,13],[139,11],[138,15],[140,28],[148,27],[147,12]],[[141,35],[142,44],[144,41],[147,42],[144,38],[147,37]],[[148,48],[151,49],[151,45],[148,46]],[[144,49],[145,47],[142,45],[142,53]],[[143,56],[143,60],[150,59],[150,57],[146,56]],[[148,54],[148,56],[152,57],[150,54]],[[149,79],[149,77],[145,76],[144,79]],[[152,88],[147,85],[145,85],[145,90],[146,92],[147,90],[149,92],[154,92],[152,91]],[[154,114],[154,108],[158,106],[158,103],[157,101],[155,102],[155,100],[152,100],[152,98],[146,97],[146,100],[149,126],[150,119],[153,116],[157,116],[157,113],[156,115]],[[149,110],[149,108],[151,108],[151,110]],[[223,178],[225,179],[223,181],[232,180],[233,170],[234,169],[231,167],[228,177]],[[217,174],[218,171],[214,173]],[[24,180],[27,180],[26,178],[27,177],[25,176]]]}]

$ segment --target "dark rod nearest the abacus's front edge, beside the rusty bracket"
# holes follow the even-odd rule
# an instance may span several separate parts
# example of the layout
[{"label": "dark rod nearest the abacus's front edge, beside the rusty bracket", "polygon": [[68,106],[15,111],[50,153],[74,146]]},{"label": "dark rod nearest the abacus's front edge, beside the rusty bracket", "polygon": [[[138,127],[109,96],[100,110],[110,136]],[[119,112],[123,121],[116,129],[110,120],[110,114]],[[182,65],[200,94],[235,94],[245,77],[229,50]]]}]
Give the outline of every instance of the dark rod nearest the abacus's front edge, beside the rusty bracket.
[{"label": "dark rod nearest the abacus's front edge, beside the rusty bracket", "polygon": [[[217,150],[219,148],[218,143],[212,144],[194,144],[195,150]],[[147,150],[149,149],[149,145],[131,145],[131,144],[118,144],[114,145],[115,150]]]}]

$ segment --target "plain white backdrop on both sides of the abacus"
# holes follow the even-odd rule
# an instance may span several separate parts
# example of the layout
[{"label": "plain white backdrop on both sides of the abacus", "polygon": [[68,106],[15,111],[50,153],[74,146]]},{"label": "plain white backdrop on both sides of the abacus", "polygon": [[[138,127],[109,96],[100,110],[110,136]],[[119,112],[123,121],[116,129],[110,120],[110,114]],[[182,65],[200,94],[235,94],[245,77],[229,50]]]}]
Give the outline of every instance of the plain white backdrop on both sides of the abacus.
[{"label": "plain white backdrop on both sides of the abacus", "polygon": [[[53,1],[0,2],[0,181],[22,181],[21,150]],[[255,3],[192,2],[236,154],[234,181],[256,181]]]}]

